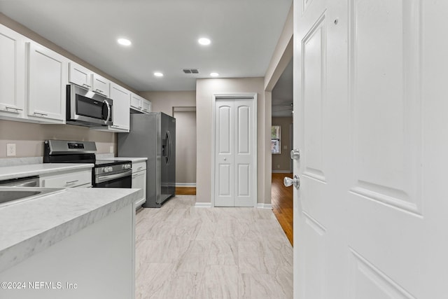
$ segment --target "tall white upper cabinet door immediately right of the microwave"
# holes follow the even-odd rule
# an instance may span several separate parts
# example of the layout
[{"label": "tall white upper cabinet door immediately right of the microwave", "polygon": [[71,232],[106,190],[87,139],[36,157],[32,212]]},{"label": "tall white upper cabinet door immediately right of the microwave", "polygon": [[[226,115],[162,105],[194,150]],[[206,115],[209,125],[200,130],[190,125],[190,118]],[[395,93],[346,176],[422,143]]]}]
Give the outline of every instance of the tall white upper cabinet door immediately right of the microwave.
[{"label": "tall white upper cabinet door immediately right of the microwave", "polygon": [[113,99],[113,127],[129,132],[131,92],[120,85],[111,83],[111,99]]}]

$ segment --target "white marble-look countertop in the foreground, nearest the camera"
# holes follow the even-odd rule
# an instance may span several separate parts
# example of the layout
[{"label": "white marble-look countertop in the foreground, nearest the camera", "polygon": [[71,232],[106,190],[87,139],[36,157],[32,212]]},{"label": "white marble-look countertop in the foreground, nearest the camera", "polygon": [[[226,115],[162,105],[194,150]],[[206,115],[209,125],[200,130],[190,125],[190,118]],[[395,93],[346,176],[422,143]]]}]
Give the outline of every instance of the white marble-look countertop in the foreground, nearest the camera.
[{"label": "white marble-look countertop in the foreground, nearest the camera", "polygon": [[67,188],[0,207],[0,272],[139,199],[140,189]]}]

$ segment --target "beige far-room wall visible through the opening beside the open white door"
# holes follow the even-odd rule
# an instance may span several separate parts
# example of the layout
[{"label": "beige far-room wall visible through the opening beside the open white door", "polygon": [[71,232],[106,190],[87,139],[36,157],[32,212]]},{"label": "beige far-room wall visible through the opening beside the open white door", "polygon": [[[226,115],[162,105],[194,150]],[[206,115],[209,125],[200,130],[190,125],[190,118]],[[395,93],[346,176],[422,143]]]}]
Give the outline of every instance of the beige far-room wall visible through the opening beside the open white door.
[{"label": "beige far-room wall visible through the opening beside the open white door", "polygon": [[292,123],[293,118],[272,118],[272,125],[281,127],[281,153],[272,154],[272,172],[290,172],[289,130]]}]

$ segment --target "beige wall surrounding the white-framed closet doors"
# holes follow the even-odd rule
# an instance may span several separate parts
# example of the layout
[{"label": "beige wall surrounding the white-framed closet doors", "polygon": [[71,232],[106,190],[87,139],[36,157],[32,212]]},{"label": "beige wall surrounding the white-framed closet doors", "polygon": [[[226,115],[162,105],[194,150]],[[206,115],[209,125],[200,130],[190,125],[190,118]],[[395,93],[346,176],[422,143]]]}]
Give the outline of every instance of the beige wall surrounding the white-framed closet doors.
[{"label": "beige wall surrounding the white-framed closet doors", "polygon": [[[257,111],[257,155],[258,155],[258,202],[265,203],[265,92],[263,78],[213,78],[196,81],[197,109],[197,202],[211,202],[212,162],[212,98],[215,93],[256,92]],[[269,103],[270,104],[270,103]],[[270,119],[270,116],[269,116]],[[270,121],[269,121],[270,123]],[[269,129],[270,130],[270,129]],[[269,135],[270,138],[270,135]],[[270,139],[269,139],[270,140]],[[270,141],[269,141],[270,144]],[[269,148],[270,150],[270,148]],[[270,152],[269,152],[270,155]],[[270,165],[269,165],[270,168]],[[269,191],[270,192],[270,191]],[[270,197],[269,197],[270,200]],[[270,201],[269,201],[270,203]]]}]

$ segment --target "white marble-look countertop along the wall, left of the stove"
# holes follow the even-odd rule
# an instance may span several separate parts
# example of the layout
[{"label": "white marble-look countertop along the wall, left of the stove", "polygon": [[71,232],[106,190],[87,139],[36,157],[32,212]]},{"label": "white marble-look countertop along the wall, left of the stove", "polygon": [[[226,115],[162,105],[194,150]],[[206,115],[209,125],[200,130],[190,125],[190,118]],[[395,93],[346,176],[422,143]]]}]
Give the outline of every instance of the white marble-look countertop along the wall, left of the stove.
[{"label": "white marble-look countertop along the wall, left of the stove", "polygon": [[0,167],[0,181],[16,179],[25,176],[38,176],[39,174],[52,174],[68,170],[80,170],[94,167],[93,164],[84,163],[43,163],[30,165],[16,165]]}]

